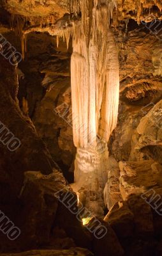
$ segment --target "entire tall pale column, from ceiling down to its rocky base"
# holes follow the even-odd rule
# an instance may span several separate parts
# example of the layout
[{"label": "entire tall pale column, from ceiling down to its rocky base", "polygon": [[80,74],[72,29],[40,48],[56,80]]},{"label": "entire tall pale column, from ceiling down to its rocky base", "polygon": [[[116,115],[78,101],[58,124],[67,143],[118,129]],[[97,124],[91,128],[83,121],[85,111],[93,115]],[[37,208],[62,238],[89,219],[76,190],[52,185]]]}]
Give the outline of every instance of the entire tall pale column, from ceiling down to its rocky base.
[{"label": "entire tall pale column, from ceiling down to its rocky base", "polygon": [[[73,0],[74,6],[77,6]],[[114,0],[80,0],[82,22],[74,28],[71,56],[73,141],[77,147],[73,188],[92,214],[103,214],[107,142],[117,122],[119,63],[109,29]]]}]

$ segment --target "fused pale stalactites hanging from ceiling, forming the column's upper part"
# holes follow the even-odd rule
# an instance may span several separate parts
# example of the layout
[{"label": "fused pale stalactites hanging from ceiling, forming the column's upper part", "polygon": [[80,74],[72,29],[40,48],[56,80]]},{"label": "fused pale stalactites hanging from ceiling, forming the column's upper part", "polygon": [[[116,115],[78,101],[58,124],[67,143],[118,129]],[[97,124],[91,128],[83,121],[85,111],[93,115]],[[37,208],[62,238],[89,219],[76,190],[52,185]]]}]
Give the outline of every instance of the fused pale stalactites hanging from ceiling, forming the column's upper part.
[{"label": "fused pale stalactites hanging from ceiling, forming the column's upper part", "polygon": [[109,29],[115,1],[84,0],[79,4],[82,22],[74,29],[71,56],[73,140],[76,147],[87,147],[95,145],[97,134],[107,142],[115,128],[119,63]]}]

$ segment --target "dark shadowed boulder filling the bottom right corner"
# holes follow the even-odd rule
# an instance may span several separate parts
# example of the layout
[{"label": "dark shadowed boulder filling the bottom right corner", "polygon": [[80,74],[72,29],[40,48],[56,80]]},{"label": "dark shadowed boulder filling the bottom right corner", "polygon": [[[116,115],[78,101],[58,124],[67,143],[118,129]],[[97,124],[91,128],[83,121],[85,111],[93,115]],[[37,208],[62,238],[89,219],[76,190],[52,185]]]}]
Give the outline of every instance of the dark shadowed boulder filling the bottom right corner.
[{"label": "dark shadowed boulder filling the bottom right corner", "polygon": [[154,239],[156,221],[152,213],[151,206],[143,198],[131,195],[125,202],[115,204],[105,216],[126,255],[158,253],[158,241]]}]

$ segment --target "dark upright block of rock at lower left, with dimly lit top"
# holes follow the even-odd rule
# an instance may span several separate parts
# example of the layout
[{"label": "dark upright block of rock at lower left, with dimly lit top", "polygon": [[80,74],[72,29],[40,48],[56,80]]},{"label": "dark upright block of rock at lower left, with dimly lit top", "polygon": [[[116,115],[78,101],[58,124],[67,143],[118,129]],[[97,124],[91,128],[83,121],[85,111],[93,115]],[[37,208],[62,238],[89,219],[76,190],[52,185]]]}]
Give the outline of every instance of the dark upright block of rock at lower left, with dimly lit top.
[{"label": "dark upright block of rock at lower left, with dimly lit top", "polygon": [[[58,208],[58,200],[54,193],[66,188],[63,175],[54,171],[50,175],[40,172],[26,172],[24,186],[20,191],[23,204],[21,221],[21,243],[24,246],[33,244],[48,244],[50,232]],[[34,196],[33,196],[34,195]],[[30,225],[27,225],[30,223]]]}]

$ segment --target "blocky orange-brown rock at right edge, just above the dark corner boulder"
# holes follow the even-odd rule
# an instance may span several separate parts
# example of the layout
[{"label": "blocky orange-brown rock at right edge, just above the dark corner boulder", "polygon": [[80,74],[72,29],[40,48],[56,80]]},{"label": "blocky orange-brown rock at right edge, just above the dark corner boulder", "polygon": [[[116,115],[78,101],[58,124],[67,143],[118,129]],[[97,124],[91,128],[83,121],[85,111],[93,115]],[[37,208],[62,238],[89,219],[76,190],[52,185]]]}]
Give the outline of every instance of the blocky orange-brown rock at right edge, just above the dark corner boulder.
[{"label": "blocky orange-brown rock at right edge, just above the dark corner boulder", "polygon": [[161,188],[161,165],[152,160],[119,162],[120,191],[123,200],[131,194],[142,194],[149,188]]}]

